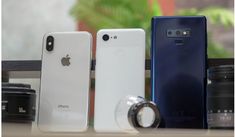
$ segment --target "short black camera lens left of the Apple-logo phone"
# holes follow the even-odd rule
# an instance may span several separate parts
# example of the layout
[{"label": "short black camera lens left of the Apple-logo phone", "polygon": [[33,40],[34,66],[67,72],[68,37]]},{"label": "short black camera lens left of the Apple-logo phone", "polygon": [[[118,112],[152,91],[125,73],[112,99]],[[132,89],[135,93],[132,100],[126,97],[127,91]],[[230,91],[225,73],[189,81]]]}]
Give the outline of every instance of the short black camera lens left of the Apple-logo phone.
[{"label": "short black camera lens left of the Apple-logo phone", "polygon": [[36,94],[28,84],[2,83],[2,121],[29,123],[35,119]]}]

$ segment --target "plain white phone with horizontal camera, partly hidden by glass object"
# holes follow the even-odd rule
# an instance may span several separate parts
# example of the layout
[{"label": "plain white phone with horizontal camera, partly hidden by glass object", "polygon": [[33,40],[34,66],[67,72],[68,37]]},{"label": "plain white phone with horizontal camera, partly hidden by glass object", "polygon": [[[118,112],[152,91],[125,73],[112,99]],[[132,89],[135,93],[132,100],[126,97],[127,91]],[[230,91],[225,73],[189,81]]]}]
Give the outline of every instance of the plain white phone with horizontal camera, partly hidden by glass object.
[{"label": "plain white phone with horizontal camera, partly hidden by glass object", "polygon": [[103,29],[97,33],[94,128],[121,132],[115,108],[127,95],[145,93],[145,31]]}]

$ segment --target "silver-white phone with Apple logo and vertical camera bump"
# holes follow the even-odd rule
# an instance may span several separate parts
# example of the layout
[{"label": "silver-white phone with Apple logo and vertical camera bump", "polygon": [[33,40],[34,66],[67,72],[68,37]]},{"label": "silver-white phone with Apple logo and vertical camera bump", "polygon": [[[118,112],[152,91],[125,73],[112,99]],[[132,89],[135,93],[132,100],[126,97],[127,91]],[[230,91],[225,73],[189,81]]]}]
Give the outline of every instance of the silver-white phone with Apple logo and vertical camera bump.
[{"label": "silver-white phone with Apple logo and vertical camera bump", "polygon": [[88,127],[92,36],[53,32],[43,38],[38,127],[81,132]]}]

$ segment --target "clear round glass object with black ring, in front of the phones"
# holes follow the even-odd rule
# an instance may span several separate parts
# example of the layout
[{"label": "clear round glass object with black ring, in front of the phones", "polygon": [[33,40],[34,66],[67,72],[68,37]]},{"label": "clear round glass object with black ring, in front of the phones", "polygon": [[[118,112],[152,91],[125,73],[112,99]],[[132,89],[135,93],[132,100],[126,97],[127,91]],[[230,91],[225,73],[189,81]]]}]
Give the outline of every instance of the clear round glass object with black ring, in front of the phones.
[{"label": "clear round glass object with black ring, in front of the phones", "polygon": [[115,120],[124,132],[138,132],[140,128],[157,128],[161,117],[155,103],[140,96],[126,96],[115,109]]}]

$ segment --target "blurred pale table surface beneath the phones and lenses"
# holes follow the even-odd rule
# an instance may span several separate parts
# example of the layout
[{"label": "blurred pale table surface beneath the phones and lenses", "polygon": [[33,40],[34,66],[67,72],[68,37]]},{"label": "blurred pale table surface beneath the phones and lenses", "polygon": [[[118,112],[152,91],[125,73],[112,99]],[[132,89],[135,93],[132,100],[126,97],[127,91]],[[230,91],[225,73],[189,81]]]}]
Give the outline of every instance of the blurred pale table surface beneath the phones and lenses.
[{"label": "blurred pale table surface beneath the phones and lenses", "polygon": [[233,137],[234,130],[199,130],[199,129],[143,129],[140,133],[96,133],[88,129],[82,133],[43,133],[35,124],[3,123],[3,137]]}]

